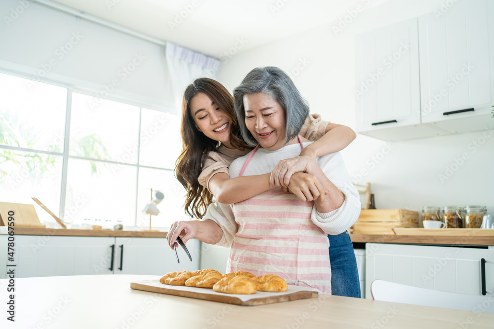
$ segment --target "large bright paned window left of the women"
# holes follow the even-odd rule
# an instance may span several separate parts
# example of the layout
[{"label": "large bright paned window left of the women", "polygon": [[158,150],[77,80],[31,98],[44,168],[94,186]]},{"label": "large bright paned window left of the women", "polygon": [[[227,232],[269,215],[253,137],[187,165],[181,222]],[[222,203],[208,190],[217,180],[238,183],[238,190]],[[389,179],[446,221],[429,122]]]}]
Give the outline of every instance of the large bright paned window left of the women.
[{"label": "large bright paned window left of the women", "polygon": [[185,189],[173,175],[179,127],[177,115],[0,73],[0,200],[33,203],[36,196],[68,223],[147,227],[142,209],[153,188],[165,199],[152,226],[168,228],[188,219]]}]

